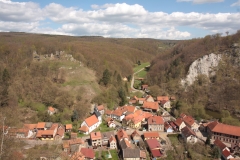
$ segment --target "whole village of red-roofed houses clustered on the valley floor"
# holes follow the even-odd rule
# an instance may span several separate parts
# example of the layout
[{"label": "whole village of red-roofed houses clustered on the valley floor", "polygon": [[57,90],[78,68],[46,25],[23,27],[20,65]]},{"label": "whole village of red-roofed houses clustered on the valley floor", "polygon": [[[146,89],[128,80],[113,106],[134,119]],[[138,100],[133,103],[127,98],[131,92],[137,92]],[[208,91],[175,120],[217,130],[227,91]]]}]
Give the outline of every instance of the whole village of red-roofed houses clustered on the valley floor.
[{"label": "whole village of red-roofed houses clustered on the valley floor", "polygon": [[[146,91],[147,87],[143,85],[142,90]],[[184,113],[173,117],[168,111],[174,101],[174,96],[145,94],[131,97],[127,105],[114,110],[95,105],[91,115],[79,124],[78,133],[72,131],[72,124],[52,122],[24,124],[22,128],[4,126],[3,133],[21,140],[56,141],[62,144],[61,157],[71,160],[161,159],[173,149],[169,139],[172,135],[189,144],[209,141],[219,148],[222,159],[238,158],[234,154],[240,148],[240,127],[217,120],[198,122]],[[55,112],[55,108],[48,107],[49,115]],[[106,132],[103,125],[110,131]]]}]

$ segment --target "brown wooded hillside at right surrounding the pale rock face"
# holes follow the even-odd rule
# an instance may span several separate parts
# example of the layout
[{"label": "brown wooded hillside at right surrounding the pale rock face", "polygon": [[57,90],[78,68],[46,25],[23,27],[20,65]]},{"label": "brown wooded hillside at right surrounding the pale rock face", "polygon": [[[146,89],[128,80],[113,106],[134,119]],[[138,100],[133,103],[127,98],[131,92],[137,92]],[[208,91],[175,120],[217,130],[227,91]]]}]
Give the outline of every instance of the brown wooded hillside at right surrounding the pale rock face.
[{"label": "brown wooded hillside at right surrounding the pale rock face", "polygon": [[[147,81],[155,85],[155,90],[158,88],[158,94],[177,97],[172,111],[175,116],[184,112],[198,119],[219,118],[222,122],[240,125],[240,52],[234,47],[235,43],[239,46],[240,31],[181,41],[152,60]],[[182,87],[180,80],[187,75],[191,63],[210,53],[224,55],[215,68],[216,74],[210,79],[199,75],[193,85]]]}]

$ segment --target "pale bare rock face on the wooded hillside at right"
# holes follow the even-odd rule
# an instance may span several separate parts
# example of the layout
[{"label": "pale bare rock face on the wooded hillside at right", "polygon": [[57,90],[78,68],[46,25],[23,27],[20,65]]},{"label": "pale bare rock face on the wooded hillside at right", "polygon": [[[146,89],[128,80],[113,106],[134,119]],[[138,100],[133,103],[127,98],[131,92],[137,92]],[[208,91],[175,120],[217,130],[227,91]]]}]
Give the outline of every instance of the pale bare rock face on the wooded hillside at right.
[{"label": "pale bare rock face on the wooded hillside at right", "polygon": [[198,75],[203,74],[209,77],[209,75],[214,74],[212,69],[218,66],[221,57],[221,54],[211,53],[195,60],[189,67],[187,77],[181,80],[182,86],[192,85]]}]

